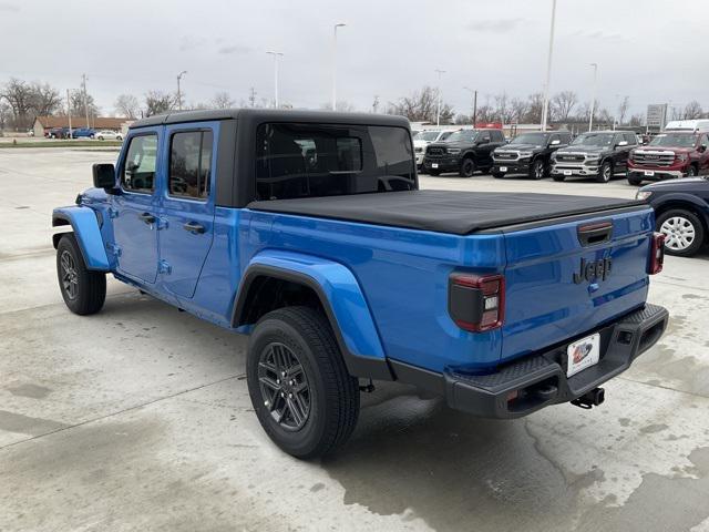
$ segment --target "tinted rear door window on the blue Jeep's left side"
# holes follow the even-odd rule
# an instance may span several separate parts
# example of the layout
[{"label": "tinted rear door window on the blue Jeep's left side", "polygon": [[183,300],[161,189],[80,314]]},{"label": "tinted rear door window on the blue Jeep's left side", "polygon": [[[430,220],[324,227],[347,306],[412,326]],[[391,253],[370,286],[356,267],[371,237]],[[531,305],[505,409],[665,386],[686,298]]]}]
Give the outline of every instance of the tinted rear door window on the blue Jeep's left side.
[{"label": "tinted rear door window on the blue Jeep's left side", "polygon": [[212,176],[212,131],[175,133],[169,141],[171,196],[206,200]]}]

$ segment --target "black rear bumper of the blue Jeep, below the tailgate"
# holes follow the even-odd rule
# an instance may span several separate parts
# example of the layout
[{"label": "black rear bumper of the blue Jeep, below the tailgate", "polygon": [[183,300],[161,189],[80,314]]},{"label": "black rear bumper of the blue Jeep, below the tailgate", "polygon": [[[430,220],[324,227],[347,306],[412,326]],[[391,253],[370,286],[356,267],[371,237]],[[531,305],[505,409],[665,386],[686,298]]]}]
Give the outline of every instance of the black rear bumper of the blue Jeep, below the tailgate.
[{"label": "black rear bumper of the blue Jeep, below the tailgate", "polygon": [[590,330],[600,334],[598,364],[566,377],[567,344],[500,366],[487,375],[453,370],[436,374],[391,360],[397,379],[443,395],[451,408],[485,418],[520,418],[551,405],[572,401],[621,374],[660,339],[669,319],[657,305]]}]

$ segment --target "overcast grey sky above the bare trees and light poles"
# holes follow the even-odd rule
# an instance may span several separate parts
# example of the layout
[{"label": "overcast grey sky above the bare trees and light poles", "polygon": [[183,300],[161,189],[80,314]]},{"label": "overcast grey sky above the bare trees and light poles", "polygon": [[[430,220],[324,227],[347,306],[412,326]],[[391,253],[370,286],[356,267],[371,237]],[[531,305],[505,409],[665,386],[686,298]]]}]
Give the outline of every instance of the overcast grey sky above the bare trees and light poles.
[{"label": "overcast grey sky above the bare trees and light poles", "polygon": [[[104,114],[115,96],[175,91],[186,102],[227,91],[238,103],[274,94],[273,60],[285,53],[280,100],[319,108],[330,99],[332,25],[338,35],[338,98],[371,109],[445,70],[443,98],[470,113],[464,85],[485,94],[526,96],[544,83],[552,0],[0,0],[0,82],[48,81],[65,90],[81,74]],[[631,112],[648,103],[698,100],[709,106],[706,0],[558,0],[552,92],[612,111],[628,95]]]}]

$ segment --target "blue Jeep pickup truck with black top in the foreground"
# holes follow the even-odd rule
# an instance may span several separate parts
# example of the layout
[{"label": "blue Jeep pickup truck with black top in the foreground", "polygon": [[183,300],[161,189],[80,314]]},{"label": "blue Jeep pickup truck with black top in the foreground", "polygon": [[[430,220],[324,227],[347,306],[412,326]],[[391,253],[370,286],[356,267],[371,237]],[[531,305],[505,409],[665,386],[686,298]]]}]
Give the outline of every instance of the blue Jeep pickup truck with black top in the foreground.
[{"label": "blue Jeep pickup truck with black top in the foreground", "polygon": [[300,458],[348,439],[373,380],[493,418],[590,408],[668,320],[646,203],[420,191],[402,117],[152,116],[93,181],[52,215],[69,309],[99,311],[112,274],[249,334],[256,415]]}]

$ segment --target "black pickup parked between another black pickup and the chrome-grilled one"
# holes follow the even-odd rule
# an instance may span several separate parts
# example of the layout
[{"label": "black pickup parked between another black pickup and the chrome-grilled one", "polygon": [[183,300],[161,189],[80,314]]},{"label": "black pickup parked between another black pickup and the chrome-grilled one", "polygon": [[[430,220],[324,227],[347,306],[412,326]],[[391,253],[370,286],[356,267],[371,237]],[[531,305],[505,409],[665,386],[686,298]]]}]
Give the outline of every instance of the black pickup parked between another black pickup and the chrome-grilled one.
[{"label": "black pickup parked between another black pickup and the chrome-grilled one", "polygon": [[572,140],[568,131],[532,132],[515,136],[510,144],[492,152],[493,177],[505,175],[525,175],[532,180],[548,176],[552,154],[566,147]]}]

